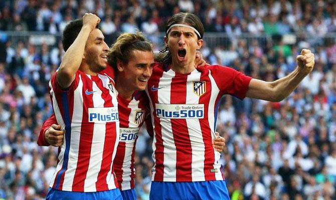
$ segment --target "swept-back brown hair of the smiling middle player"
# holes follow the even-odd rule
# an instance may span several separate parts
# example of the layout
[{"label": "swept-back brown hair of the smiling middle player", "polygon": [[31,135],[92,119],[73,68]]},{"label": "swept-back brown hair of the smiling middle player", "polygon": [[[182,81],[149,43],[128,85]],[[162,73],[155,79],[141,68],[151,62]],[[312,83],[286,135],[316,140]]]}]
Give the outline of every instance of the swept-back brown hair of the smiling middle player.
[{"label": "swept-back brown hair of the smiling middle player", "polygon": [[120,60],[123,63],[128,63],[130,57],[133,56],[133,50],[153,51],[151,43],[141,32],[122,33],[112,44],[107,55],[107,62],[117,69],[117,61]]}]

